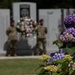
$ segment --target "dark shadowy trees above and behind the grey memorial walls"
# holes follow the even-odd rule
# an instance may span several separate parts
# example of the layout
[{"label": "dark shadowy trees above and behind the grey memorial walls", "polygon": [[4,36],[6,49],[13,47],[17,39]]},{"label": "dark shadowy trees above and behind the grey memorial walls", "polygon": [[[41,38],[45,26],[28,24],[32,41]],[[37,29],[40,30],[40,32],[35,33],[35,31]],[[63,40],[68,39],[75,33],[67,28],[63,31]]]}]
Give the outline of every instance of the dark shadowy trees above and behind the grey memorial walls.
[{"label": "dark shadowy trees above and behind the grey memorial walls", "polygon": [[74,0],[0,0],[0,8],[11,9],[13,2],[36,2],[38,8],[73,8]]}]

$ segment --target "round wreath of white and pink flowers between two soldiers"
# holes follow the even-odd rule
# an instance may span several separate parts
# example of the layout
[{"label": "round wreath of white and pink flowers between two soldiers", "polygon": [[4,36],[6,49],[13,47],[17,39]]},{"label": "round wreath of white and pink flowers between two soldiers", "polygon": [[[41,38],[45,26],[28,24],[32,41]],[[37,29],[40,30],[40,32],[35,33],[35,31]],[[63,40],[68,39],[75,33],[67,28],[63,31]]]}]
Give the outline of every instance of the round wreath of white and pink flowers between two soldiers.
[{"label": "round wreath of white and pink flowers between two soldiers", "polygon": [[25,37],[30,37],[34,33],[34,28],[36,26],[36,23],[34,20],[31,18],[25,17],[25,18],[20,18],[18,20],[16,28],[19,33],[22,35],[25,35]]}]

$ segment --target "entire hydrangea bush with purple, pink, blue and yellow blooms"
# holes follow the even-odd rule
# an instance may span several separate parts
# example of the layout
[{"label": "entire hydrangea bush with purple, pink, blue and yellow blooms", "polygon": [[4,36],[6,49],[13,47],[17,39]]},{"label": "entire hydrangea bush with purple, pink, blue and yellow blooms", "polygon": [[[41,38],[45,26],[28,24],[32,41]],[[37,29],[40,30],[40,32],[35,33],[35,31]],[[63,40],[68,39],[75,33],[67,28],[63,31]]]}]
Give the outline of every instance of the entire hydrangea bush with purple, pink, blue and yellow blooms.
[{"label": "entire hydrangea bush with purple, pink, blue and yellow blooms", "polygon": [[42,55],[38,75],[75,75],[75,14],[68,15],[64,24],[66,30],[53,44],[65,51]]}]

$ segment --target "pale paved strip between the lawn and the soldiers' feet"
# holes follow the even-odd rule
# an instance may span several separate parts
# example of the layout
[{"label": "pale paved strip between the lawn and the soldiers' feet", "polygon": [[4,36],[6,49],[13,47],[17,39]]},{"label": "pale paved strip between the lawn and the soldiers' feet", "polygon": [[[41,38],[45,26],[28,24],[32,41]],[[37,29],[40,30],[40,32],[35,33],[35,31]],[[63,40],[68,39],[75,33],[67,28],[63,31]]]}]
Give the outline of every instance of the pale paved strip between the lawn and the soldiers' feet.
[{"label": "pale paved strip between the lawn and the soldiers' feet", "polygon": [[40,58],[41,56],[0,56],[0,59]]}]

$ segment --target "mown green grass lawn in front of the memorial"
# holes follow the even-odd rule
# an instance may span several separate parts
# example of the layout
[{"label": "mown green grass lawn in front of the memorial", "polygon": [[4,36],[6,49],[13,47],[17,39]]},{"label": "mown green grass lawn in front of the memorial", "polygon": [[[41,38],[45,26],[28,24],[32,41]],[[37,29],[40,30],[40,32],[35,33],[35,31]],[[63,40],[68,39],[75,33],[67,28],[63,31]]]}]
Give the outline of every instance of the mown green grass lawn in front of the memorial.
[{"label": "mown green grass lawn in front of the memorial", "polygon": [[37,58],[0,59],[0,75],[36,75],[40,63]]}]

